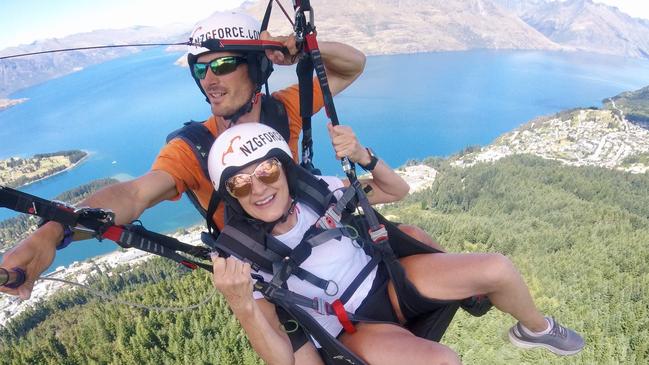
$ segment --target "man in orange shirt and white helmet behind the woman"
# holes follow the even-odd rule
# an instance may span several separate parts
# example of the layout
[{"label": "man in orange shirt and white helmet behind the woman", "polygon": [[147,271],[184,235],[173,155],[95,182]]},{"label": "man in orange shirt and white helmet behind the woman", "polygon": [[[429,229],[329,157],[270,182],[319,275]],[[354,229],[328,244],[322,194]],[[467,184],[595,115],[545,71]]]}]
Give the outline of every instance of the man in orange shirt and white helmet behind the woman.
[{"label": "man in orange shirt and white helmet behind the woman", "polygon": [[[293,36],[271,37],[267,32],[260,34],[259,29],[259,22],[250,16],[225,12],[199,22],[192,33],[193,44],[188,54],[190,71],[210,104],[212,116],[204,125],[215,137],[234,122],[259,122],[262,115],[259,90],[270,75],[272,64],[291,65],[296,61],[298,50]],[[219,36],[223,37],[214,39]],[[227,41],[234,42],[235,46],[238,42],[251,47],[238,52],[219,50],[227,48],[222,44]],[[264,42],[282,44],[289,53],[263,49]],[[363,53],[341,43],[320,42],[320,52],[334,95],[349,86],[365,66]],[[313,88],[314,112],[323,105],[317,86]],[[275,92],[273,97],[286,109],[291,149],[297,158],[297,141],[302,129],[297,85]],[[189,190],[206,209],[212,184],[203,176],[191,147],[175,139],[162,148],[149,172],[101,189],[79,205],[111,209],[116,224],[127,224],[144,210],[163,200],[177,200]],[[222,213],[217,212],[215,217],[220,226]],[[22,268],[27,278],[17,289],[1,287],[0,291],[29,298],[36,278],[51,265],[55,249],[64,246],[65,228],[57,222],[47,222],[8,251],[0,266]]]}]

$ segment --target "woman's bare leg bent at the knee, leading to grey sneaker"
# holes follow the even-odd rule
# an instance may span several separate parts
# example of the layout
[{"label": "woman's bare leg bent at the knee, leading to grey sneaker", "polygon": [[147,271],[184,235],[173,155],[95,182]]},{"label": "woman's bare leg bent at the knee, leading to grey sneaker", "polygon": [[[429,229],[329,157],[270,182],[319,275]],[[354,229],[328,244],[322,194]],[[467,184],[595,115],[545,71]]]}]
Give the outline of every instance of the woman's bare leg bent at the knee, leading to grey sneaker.
[{"label": "woman's bare leg bent at the knee, leading to grey sneaker", "polygon": [[408,279],[426,297],[462,299],[485,294],[496,308],[530,330],[548,327],[521,274],[501,254],[423,254],[400,261]]}]

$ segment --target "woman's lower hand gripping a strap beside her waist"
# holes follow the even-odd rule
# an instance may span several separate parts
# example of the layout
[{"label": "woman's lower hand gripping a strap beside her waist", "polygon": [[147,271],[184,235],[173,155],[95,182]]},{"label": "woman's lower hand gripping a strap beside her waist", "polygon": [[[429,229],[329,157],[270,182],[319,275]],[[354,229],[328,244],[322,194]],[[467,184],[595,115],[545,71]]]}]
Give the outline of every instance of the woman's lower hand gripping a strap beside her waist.
[{"label": "woman's lower hand gripping a strap beside her waist", "polygon": [[212,282],[228,301],[232,311],[237,313],[252,310],[254,299],[250,264],[234,257],[224,259],[216,253],[211,257],[214,270]]}]

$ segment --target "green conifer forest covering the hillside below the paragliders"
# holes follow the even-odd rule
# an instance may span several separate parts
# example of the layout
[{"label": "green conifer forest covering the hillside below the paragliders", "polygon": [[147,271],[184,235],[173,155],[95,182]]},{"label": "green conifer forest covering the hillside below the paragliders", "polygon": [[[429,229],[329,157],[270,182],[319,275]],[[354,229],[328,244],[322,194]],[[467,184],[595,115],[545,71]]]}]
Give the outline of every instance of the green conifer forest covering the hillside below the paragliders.
[{"label": "green conifer forest covering the hillside below the paragliders", "polygon": [[[526,278],[542,311],[583,333],[587,345],[560,358],[513,347],[514,321],[497,311],[458,314],[443,342],[466,364],[649,362],[649,175],[514,156],[439,170],[435,184],[385,214],[419,225],[453,252],[502,252]],[[148,305],[183,306],[212,292],[206,273],[161,259],[94,284]],[[220,296],[179,313],[156,313],[56,295],[0,334],[2,364],[258,364]]]}]

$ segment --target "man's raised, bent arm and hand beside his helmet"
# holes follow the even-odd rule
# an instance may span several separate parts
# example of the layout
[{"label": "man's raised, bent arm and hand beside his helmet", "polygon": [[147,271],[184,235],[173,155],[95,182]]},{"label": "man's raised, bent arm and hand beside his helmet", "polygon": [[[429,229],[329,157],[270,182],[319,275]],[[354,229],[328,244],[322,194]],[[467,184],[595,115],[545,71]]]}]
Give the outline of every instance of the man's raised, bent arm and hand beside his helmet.
[{"label": "man's raised, bent arm and hand beside his helmet", "polygon": [[[281,51],[266,51],[266,56],[276,65],[292,65],[298,61],[298,50],[295,45],[295,35],[273,37],[264,31],[261,39],[282,42],[288,53]],[[318,42],[322,62],[327,70],[329,89],[333,95],[351,85],[365,68],[365,55],[356,48],[339,42]]]}]

